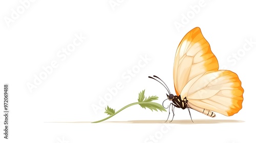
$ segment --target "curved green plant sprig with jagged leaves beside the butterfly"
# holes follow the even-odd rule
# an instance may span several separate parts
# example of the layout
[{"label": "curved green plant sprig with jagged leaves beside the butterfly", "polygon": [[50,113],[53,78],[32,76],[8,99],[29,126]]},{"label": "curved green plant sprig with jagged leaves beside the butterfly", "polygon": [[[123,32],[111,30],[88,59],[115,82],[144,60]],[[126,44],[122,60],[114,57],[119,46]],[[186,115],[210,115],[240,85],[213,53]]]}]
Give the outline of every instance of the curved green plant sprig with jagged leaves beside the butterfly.
[{"label": "curved green plant sprig with jagged leaves beside the butterfly", "polygon": [[145,90],[142,90],[140,93],[139,93],[139,98],[138,98],[138,102],[135,102],[135,103],[132,103],[132,104],[129,104],[129,105],[126,105],[124,106],[123,108],[121,108],[120,110],[118,110],[117,112],[115,112],[115,109],[113,108],[110,108],[109,106],[105,108],[105,112],[106,114],[110,115],[106,118],[103,118],[102,120],[99,120],[99,121],[95,121],[95,122],[92,122],[92,123],[99,123],[99,122],[102,122],[102,121],[105,121],[105,120],[108,120],[109,118],[111,118],[112,116],[116,115],[117,113],[121,112],[123,109],[125,108],[128,108],[128,107],[131,107],[133,105],[137,105],[139,104],[140,107],[146,109],[151,109],[152,111],[155,110],[155,111],[165,111],[166,110],[163,108],[162,105],[158,104],[158,103],[155,103],[155,102],[152,102],[154,100],[158,100],[158,97],[157,96],[150,96],[148,98],[146,98],[144,96],[144,93],[145,93]]}]

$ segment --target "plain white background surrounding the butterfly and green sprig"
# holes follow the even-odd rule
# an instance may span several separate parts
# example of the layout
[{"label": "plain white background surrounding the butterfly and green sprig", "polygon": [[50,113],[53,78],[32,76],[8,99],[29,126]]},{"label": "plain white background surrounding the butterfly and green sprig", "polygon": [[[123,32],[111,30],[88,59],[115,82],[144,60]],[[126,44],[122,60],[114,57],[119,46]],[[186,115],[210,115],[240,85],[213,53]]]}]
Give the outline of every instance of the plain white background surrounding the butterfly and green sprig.
[{"label": "plain white background surrounding the butterfly and green sprig", "polygon": [[[254,138],[256,43],[243,49],[246,40],[256,41],[254,1],[29,1],[22,11],[24,1],[0,2],[0,85],[10,86],[10,139],[2,134],[1,111],[1,142],[244,142]],[[193,11],[195,7],[200,9]],[[12,9],[18,16],[12,18]],[[166,90],[147,76],[159,76],[175,93],[175,52],[195,27],[210,43],[220,69],[237,73],[244,88],[242,110],[229,117],[216,113],[214,120],[243,123],[47,123],[101,120],[108,115],[99,101],[117,83],[122,83],[122,89],[105,105],[118,110],[137,102],[143,89],[146,96],[157,95],[161,104]],[[76,34],[87,39],[65,60],[58,57]],[[127,70],[136,68],[145,55],[151,60],[128,80]],[[34,84],[34,76],[52,61],[58,66],[30,92],[28,84]],[[0,103],[3,110],[3,96]],[[108,121],[166,120],[167,114],[135,105]],[[191,115],[194,120],[212,120],[197,111]],[[187,110],[176,109],[174,119],[190,117]]]}]

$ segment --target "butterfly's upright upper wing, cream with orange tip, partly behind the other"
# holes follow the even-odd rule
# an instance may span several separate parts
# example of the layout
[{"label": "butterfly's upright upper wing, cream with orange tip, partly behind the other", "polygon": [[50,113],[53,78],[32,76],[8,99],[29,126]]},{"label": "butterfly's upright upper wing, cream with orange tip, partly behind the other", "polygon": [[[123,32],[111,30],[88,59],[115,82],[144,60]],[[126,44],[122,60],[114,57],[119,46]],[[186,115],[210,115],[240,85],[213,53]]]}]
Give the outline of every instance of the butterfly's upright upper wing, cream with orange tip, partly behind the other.
[{"label": "butterfly's upright upper wing, cream with orange tip, partly behind the other", "polygon": [[175,56],[173,74],[177,96],[189,80],[218,68],[218,60],[212,54],[200,28],[189,31],[181,40]]}]

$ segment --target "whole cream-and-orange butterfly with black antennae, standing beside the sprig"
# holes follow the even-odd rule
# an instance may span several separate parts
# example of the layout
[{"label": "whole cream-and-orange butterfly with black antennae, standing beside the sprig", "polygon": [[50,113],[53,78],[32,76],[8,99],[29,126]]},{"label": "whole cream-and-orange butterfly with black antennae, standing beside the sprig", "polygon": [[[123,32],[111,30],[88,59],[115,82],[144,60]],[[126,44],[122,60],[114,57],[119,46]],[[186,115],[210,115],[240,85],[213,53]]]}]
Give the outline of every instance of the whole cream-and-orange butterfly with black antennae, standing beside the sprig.
[{"label": "whole cream-and-orange butterfly with black antennae, standing beside the sprig", "polygon": [[230,70],[219,70],[218,60],[198,27],[183,37],[176,51],[173,78],[177,96],[170,93],[159,77],[153,77],[149,78],[168,91],[166,100],[172,101],[168,107],[172,105],[173,118],[175,107],[188,109],[190,118],[189,109],[210,117],[216,116],[214,112],[231,116],[242,109],[244,89],[238,75]]}]

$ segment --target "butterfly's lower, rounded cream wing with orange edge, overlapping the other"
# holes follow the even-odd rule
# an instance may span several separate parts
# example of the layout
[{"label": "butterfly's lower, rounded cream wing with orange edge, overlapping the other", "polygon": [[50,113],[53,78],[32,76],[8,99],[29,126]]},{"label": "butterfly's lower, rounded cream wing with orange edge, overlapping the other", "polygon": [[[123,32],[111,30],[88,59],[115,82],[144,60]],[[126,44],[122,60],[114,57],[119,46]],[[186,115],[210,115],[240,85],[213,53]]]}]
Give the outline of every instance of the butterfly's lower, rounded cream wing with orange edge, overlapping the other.
[{"label": "butterfly's lower, rounded cream wing with orange edge, overlapping the other", "polygon": [[208,71],[191,79],[181,91],[191,106],[226,116],[242,108],[244,89],[237,74],[229,70]]}]

